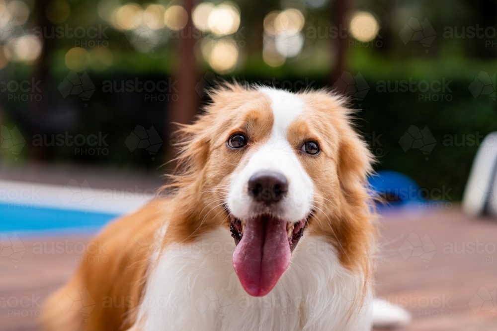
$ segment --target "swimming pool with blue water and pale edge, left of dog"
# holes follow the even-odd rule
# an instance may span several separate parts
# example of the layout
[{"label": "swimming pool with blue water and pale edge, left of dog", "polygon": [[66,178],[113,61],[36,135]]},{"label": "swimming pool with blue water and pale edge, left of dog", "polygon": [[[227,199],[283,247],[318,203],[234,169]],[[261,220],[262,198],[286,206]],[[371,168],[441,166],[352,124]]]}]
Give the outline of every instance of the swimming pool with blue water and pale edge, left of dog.
[{"label": "swimming pool with blue water and pale edge, left of dog", "polygon": [[153,198],[109,192],[86,181],[54,186],[0,180],[0,232],[95,232]]}]

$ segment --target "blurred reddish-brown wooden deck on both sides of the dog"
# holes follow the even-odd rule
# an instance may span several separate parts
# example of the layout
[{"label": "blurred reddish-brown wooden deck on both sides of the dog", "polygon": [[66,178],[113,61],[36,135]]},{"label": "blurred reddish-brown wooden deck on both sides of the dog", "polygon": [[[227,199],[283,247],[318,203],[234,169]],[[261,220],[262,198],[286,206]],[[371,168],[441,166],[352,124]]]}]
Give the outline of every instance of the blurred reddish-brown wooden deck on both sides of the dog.
[{"label": "blurred reddish-brown wooden deck on both sides of the dog", "polygon": [[[471,220],[457,207],[406,218],[390,216],[381,224],[377,295],[412,313],[410,331],[497,330],[497,221]],[[18,262],[4,251],[0,331],[39,330],[39,304],[70,277],[79,261],[72,247],[87,240],[21,237],[18,250],[25,251]],[[63,254],[35,254],[44,243],[73,245]]]}]

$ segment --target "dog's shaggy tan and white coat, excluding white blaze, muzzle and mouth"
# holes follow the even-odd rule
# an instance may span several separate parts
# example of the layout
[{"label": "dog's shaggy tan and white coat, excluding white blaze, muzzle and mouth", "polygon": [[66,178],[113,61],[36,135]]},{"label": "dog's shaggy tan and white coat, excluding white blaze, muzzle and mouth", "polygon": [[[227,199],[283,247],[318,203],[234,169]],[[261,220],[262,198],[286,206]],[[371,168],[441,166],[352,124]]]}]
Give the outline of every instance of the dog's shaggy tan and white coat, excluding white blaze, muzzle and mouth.
[{"label": "dog's shaggy tan and white coat, excluding white blaze, muzzle and mouth", "polygon": [[[177,168],[165,188],[170,196],[97,236],[108,243],[108,262],[90,263],[86,254],[73,279],[46,302],[47,330],[371,328],[375,217],[366,180],[372,155],[343,99],[324,90],[281,93],[303,104],[285,133],[292,157],[312,180],[313,211],[274,289],[251,297],[241,287],[224,206],[234,178],[271,140],[274,100],[263,88],[225,85],[180,131]],[[235,132],[246,132],[247,148],[227,148]],[[299,152],[309,139],[319,142],[318,157]],[[83,304],[75,305],[78,294]]]}]

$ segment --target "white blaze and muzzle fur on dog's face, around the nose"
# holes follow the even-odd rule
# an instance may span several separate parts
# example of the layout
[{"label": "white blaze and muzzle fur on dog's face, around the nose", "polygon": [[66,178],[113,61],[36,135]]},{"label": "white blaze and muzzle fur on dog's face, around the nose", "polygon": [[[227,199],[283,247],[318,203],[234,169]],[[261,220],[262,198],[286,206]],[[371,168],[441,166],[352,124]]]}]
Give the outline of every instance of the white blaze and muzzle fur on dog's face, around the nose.
[{"label": "white blaze and muzzle fur on dog's face, around the nose", "polygon": [[[303,100],[292,93],[263,87],[271,99],[274,123],[271,136],[251,156],[242,169],[231,175],[228,208],[239,219],[248,219],[264,212],[263,206],[248,195],[248,180],[253,174],[277,171],[288,180],[288,193],[278,203],[271,205],[271,212],[287,222],[299,222],[312,208],[314,185],[300,163],[294,147],[287,139],[287,129],[303,112]],[[300,146],[299,146],[300,148]]]}]

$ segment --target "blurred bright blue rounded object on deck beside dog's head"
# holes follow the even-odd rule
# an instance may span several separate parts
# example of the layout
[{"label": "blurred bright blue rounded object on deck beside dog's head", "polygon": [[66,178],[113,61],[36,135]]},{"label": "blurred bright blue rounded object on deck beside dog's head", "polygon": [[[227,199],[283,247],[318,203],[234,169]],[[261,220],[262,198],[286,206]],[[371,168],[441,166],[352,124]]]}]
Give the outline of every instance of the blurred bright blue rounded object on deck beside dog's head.
[{"label": "blurred bright blue rounded object on deck beside dog's head", "polygon": [[397,171],[378,171],[376,175],[369,178],[369,185],[392,207],[423,201],[422,193],[416,182]]}]

